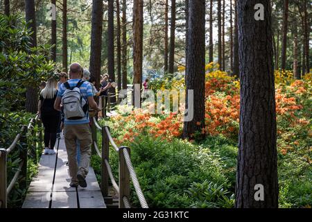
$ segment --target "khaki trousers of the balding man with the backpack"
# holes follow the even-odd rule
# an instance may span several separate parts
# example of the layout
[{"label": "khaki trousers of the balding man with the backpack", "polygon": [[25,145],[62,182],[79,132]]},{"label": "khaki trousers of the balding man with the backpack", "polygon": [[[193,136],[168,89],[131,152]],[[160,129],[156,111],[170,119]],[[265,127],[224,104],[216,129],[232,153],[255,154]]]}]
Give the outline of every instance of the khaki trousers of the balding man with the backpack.
[{"label": "khaki trousers of the balding man with the backpack", "polygon": [[[71,182],[78,182],[77,173],[84,177],[89,171],[92,135],[89,123],[64,126],[65,146],[67,150],[69,175]],[[80,167],[77,164],[77,145],[76,139],[80,142]]]}]

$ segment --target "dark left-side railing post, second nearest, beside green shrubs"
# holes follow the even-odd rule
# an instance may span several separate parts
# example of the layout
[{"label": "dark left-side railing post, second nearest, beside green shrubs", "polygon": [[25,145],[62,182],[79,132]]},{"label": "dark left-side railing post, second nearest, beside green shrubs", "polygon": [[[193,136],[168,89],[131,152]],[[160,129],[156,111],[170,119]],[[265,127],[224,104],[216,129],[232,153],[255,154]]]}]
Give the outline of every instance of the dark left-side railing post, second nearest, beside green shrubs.
[{"label": "dark left-side railing post, second nearest, beside green shrubs", "polygon": [[[21,139],[19,140],[22,148],[21,151],[19,153],[19,159],[21,159],[21,161],[24,161],[23,167],[21,167],[21,181],[19,182],[19,187],[21,189],[26,189],[27,187],[27,154],[28,154],[28,145],[27,145],[27,137],[26,137],[26,133],[27,133],[27,126],[24,126],[24,130],[21,132]],[[24,145],[24,146],[23,146]]]}]

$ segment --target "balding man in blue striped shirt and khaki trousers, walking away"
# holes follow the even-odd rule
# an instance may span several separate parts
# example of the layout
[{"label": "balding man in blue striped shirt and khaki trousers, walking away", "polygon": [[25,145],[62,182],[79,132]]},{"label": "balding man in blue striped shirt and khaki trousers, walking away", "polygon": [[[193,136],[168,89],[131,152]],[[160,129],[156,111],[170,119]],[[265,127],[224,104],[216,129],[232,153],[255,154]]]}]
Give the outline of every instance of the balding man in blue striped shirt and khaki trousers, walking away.
[{"label": "balding man in blue striped shirt and khaki trousers, walking away", "polygon": [[[55,100],[54,108],[55,110],[61,110],[61,102],[62,97],[69,90],[75,93],[74,89],[79,88],[80,95],[83,96],[83,99],[87,102],[91,108],[96,111],[100,111],[101,109],[98,108],[96,101],[94,101],[93,93],[92,93],[92,86],[87,81],[81,80],[81,75],[83,72],[83,68],[78,63],[73,63],[70,66],[69,77],[70,79],[60,85],[60,89],[58,91],[58,96]],[[68,83],[68,84],[67,84]],[[69,96],[73,97],[73,96]],[[64,99],[63,98],[63,99]],[[62,102],[64,103],[64,101]],[[71,103],[71,108],[74,103]],[[87,182],[85,177],[89,171],[89,163],[91,157],[91,145],[92,145],[92,135],[89,128],[89,111],[85,111],[84,117],[70,117],[67,118],[67,112],[71,112],[71,110],[67,111],[65,104],[64,106],[64,139],[65,139],[65,146],[67,149],[68,155],[68,164],[69,164],[69,174],[71,176],[71,187],[87,187]],[[76,105],[76,104],[75,104]],[[78,104],[79,105],[79,104]],[[70,113],[68,114],[70,115]],[[80,167],[78,169],[76,153],[76,140],[80,142]]]}]

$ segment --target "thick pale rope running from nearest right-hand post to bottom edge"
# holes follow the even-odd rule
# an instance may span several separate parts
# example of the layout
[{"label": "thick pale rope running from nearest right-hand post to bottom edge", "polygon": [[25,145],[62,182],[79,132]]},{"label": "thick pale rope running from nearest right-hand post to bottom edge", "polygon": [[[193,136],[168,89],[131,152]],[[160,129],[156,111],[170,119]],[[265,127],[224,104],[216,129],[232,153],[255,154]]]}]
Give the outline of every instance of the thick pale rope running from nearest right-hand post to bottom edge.
[{"label": "thick pale rope running from nearest right-hand post to bottom edge", "polygon": [[139,201],[141,203],[141,207],[142,208],[148,208],[148,204],[146,203],[146,199],[145,199],[144,194],[142,192],[142,189],[140,187],[139,180],[137,179],[137,174],[135,173],[135,169],[132,166],[130,155],[129,155],[126,148],[123,148],[123,155],[125,157],[125,162],[127,164],[129,172],[130,172],[130,176],[131,176],[131,179],[133,182],[133,186],[135,187],[135,191],[137,192],[137,196],[138,196]]}]

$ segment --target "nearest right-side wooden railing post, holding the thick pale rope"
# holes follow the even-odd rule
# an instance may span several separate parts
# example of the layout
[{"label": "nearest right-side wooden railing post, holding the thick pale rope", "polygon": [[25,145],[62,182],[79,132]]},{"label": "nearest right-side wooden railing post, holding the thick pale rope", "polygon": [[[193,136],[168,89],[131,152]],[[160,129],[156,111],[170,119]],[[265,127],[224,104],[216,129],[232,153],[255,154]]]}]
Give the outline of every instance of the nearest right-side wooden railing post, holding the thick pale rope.
[{"label": "nearest right-side wooden railing post, holding the thick pale rope", "polygon": [[130,173],[125,162],[123,149],[126,148],[130,155],[130,148],[121,146],[119,148],[119,208],[125,208],[123,203],[123,196],[130,199]]}]

